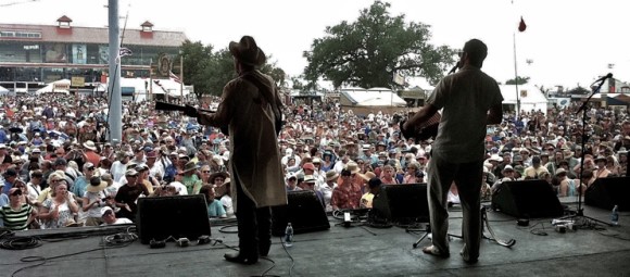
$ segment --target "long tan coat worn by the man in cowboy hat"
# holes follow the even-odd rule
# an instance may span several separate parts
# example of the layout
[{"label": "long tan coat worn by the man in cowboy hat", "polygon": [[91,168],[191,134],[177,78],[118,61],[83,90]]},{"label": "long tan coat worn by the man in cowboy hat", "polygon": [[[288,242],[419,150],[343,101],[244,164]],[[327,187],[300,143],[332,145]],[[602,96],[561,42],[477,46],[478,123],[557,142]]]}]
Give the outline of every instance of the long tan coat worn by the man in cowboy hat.
[{"label": "long tan coat worn by the man in cowboy hat", "polygon": [[[280,105],[273,79],[259,71],[250,74],[265,85]],[[238,201],[236,186],[241,186],[257,207],[287,204],[275,115],[254,84],[241,77],[228,83],[216,113],[202,113],[199,122],[215,127],[228,125],[235,203]]]}]

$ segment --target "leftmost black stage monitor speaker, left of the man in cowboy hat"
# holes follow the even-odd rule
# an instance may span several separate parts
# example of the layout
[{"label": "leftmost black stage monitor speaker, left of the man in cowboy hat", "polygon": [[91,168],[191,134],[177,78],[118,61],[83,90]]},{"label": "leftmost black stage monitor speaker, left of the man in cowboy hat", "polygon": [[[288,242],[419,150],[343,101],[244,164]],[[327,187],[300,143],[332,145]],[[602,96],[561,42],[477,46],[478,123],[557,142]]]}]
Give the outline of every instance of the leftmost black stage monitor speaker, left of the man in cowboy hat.
[{"label": "leftmost black stage monitor speaker, left of the man in cowboy hat", "polygon": [[143,244],[171,236],[192,241],[211,235],[207,205],[202,194],[140,198],[136,223]]}]

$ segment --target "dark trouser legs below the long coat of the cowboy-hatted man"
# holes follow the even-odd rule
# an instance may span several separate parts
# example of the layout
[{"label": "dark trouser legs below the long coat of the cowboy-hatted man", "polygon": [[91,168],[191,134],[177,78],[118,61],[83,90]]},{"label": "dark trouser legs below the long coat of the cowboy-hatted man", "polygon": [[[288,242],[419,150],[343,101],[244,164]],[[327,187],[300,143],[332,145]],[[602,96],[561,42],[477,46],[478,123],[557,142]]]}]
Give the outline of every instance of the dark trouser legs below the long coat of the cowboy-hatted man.
[{"label": "dark trouser legs below the long coat of the cowboy-hatted man", "polygon": [[240,253],[252,256],[267,255],[272,244],[272,209],[256,207],[254,202],[243,192],[241,185],[237,187],[237,222],[239,228]]}]

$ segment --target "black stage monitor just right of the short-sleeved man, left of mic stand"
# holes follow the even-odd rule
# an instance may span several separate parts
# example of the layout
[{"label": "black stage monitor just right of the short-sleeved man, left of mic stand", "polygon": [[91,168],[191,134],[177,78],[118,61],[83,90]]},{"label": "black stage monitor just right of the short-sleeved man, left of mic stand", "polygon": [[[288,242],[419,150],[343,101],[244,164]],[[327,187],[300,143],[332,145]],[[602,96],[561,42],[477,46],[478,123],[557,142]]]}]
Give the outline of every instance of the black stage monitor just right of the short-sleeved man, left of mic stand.
[{"label": "black stage monitor just right of the short-sleeved man, left of mic stand", "polygon": [[552,186],[539,179],[504,181],[492,196],[492,207],[520,218],[564,215]]}]

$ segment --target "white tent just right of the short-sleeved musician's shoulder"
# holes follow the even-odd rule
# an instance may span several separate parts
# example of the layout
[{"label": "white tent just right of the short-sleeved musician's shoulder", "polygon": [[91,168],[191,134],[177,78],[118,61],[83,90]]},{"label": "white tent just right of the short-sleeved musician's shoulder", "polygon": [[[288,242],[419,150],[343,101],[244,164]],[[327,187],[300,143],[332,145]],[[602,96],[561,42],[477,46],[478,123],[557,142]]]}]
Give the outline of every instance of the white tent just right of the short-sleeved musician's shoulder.
[{"label": "white tent just right of the short-sleeved musician's shoulder", "polygon": [[514,105],[516,108],[516,93],[520,100],[520,110],[526,112],[541,111],[546,114],[547,99],[533,85],[519,85],[518,92],[515,85],[501,85],[501,95],[503,95],[503,104]]}]

